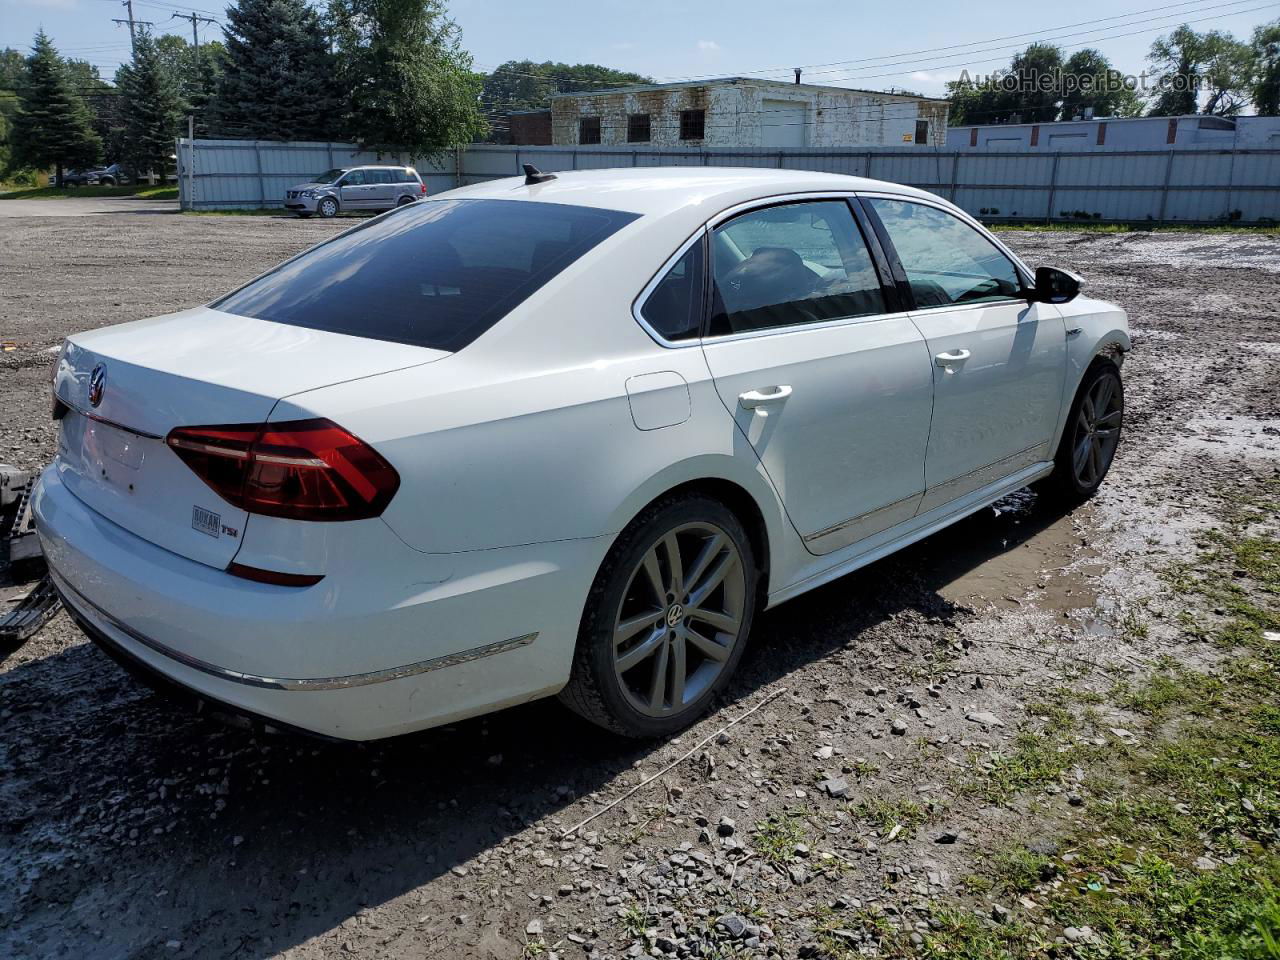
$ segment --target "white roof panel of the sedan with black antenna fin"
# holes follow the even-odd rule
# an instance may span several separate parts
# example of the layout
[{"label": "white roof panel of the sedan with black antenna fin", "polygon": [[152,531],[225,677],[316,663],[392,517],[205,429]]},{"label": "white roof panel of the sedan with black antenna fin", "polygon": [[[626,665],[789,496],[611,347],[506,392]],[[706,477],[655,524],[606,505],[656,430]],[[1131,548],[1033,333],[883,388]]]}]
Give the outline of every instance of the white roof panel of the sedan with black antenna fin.
[{"label": "white roof panel of the sedan with black antenna fin", "polygon": [[635,214],[663,215],[698,206],[707,216],[737,204],[790,193],[881,191],[938,200],[915,187],[865,177],[814,170],[754,166],[644,166],[557,173],[556,179],[525,184],[524,177],[504,177],[438,193],[440,198],[531,200],[573,204]]}]

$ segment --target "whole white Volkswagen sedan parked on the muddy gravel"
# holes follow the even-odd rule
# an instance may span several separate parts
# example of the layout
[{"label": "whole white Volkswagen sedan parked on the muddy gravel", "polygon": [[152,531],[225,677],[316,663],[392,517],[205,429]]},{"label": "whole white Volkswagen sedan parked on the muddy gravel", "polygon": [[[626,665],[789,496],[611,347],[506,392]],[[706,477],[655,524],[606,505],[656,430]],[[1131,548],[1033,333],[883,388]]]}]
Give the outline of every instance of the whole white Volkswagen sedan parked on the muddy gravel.
[{"label": "whole white Volkswagen sedan parked on the muddy gravel", "polygon": [[559,694],[653,736],[753,614],[1033,481],[1089,495],[1125,314],[923,191],[503,179],[72,337],[68,612],[219,709],[383,737]]}]

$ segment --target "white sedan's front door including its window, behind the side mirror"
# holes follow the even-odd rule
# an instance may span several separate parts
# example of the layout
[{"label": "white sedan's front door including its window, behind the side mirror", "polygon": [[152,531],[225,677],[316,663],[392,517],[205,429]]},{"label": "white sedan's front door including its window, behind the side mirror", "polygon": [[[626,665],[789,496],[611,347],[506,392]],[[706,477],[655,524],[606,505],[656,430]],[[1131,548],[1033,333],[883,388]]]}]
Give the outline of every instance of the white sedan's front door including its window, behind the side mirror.
[{"label": "white sedan's front door including its window, behind the side mirror", "polygon": [[1066,376],[1062,315],[1028,302],[1014,261],[954,212],[892,197],[863,205],[933,358],[920,511],[1051,460]]}]

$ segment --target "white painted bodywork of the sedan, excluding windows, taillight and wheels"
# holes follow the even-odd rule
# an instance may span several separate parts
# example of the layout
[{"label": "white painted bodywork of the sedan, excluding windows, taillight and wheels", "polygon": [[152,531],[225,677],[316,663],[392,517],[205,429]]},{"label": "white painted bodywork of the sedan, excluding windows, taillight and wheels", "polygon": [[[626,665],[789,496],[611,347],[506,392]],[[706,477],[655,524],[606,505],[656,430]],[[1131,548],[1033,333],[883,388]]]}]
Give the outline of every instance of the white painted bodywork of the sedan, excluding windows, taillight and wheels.
[{"label": "white painted bodywork of the sedan, excluding windows, taillight and wheels", "polygon": [[[708,224],[781,197],[873,195],[982,230],[933,195],[835,174],[495,180],[415,206],[640,216],[452,353],[211,307],[74,335],[55,372],[70,412],[35,494],[55,585],[95,639],[150,671],[280,726],[364,740],[559,691],[611,545],[676,488],[749,515],[768,605],[919,540],[1051,471],[1082,375],[1129,348],[1119,307],[979,303],[676,346],[637,319]],[[961,348],[954,367],[934,358]],[[781,385],[790,397],[768,402]],[[763,399],[744,408],[753,390]],[[310,417],[398,471],[380,516],[247,513],[163,439]],[[193,507],[216,513],[216,535],[193,529]],[[227,572],[233,561],[324,579],[253,582]]]}]

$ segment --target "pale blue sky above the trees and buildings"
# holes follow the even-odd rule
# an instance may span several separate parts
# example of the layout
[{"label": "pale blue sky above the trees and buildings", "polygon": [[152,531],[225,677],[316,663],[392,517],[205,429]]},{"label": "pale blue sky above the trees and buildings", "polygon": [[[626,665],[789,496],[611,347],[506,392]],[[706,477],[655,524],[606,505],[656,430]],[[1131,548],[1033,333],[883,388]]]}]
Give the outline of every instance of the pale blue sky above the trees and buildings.
[{"label": "pale blue sky above the trees and buildings", "polygon": [[[175,10],[200,9],[224,19],[220,0],[134,0],[134,17],[160,32],[191,36]],[[791,78],[804,65],[810,83],[883,90],[908,87],[929,95],[961,69],[988,73],[1006,65],[1032,40],[1055,40],[1068,51],[1096,46],[1117,68],[1139,73],[1147,49],[1180,22],[1226,29],[1245,38],[1280,17],[1280,0],[1078,0],[1071,4],[928,0],[914,5],[826,0],[453,0],[451,13],[476,67],[503,60],[595,61],[659,81],[710,76]],[[980,14],[977,10],[980,9]],[[0,46],[26,50],[36,28],[64,55],[99,65],[110,78],[128,58],[128,31],[119,0],[0,0]],[[201,24],[202,37],[219,36]]]}]

